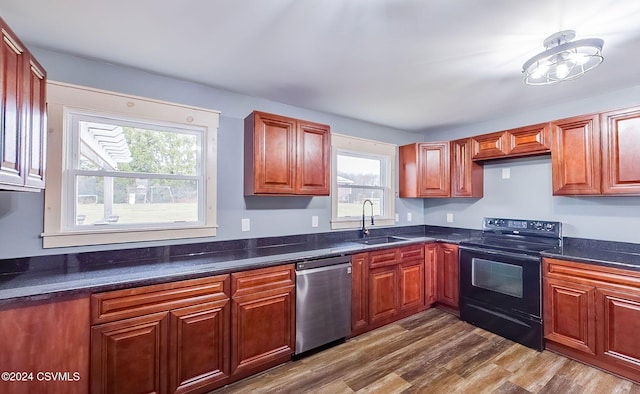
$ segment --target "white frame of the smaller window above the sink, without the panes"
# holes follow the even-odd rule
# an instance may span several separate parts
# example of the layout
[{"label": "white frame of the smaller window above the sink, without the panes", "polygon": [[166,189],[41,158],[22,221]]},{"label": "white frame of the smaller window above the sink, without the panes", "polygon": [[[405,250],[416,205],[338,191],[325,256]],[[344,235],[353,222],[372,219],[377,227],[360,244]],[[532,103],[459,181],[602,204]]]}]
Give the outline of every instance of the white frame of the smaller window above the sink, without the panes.
[{"label": "white frame of the smaller window above the sink, without the panes", "polygon": [[341,152],[378,156],[387,159],[387,171],[386,174],[382,174],[383,180],[386,181],[384,188],[384,215],[375,216],[375,227],[393,226],[395,224],[397,151],[398,147],[394,144],[335,133],[331,134],[331,229],[362,227],[362,217],[357,219],[338,217],[338,154]]}]

